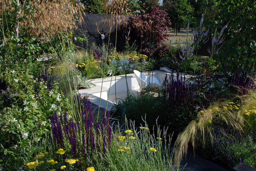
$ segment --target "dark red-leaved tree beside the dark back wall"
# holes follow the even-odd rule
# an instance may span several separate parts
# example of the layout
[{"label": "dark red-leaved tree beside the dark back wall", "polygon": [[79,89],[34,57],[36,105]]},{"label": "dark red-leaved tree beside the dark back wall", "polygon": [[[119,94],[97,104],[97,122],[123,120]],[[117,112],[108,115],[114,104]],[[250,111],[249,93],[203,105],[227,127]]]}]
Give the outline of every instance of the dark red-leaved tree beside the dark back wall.
[{"label": "dark red-leaved tree beside the dark back wall", "polygon": [[128,26],[135,35],[138,46],[142,46],[143,54],[153,54],[154,58],[162,57],[164,49],[167,48],[164,42],[168,38],[167,31],[171,25],[166,15],[164,10],[154,5],[150,13],[134,16],[129,20]]}]

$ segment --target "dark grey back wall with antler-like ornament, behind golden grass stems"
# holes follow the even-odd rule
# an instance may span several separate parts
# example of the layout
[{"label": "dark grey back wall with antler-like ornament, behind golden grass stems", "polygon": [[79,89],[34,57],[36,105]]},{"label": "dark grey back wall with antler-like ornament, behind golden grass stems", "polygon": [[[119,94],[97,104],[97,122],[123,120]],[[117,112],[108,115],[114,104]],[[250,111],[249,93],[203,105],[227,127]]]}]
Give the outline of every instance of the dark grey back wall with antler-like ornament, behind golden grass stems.
[{"label": "dark grey back wall with antler-like ornament, behind golden grass stems", "polygon": [[[123,32],[120,31],[119,27],[124,22],[132,16],[130,15],[111,15],[111,14],[83,14],[84,21],[78,23],[74,30],[74,33],[81,38],[85,36],[88,37],[88,42],[95,43],[97,46],[102,46],[102,43],[105,42],[108,44],[108,39],[110,38],[110,43],[115,46],[117,50],[122,50],[125,44],[125,37]],[[117,24],[117,37],[116,37],[116,24]],[[111,28],[110,28],[111,27]],[[99,33],[100,32],[100,33]],[[101,38],[101,34],[104,34],[106,37],[104,40]],[[77,46],[86,47],[86,42],[80,42],[73,40]]]}]

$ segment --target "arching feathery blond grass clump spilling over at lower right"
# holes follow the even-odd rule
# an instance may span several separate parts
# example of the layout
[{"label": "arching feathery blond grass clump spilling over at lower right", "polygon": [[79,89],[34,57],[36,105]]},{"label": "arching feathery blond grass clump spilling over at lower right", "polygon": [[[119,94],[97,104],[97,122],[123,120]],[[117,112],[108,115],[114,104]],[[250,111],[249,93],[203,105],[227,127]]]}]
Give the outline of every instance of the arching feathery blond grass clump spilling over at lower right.
[{"label": "arching feathery blond grass clump spilling over at lower right", "polygon": [[208,146],[213,146],[214,128],[216,127],[216,129],[229,127],[233,130],[241,130],[244,117],[238,105],[236,107],[233,105],[228,108],[230,103],[217,101],[208,109],[200,111],[196,119],[190,121],[184,131],[178,135],[174,148],[175,162],[178,163],[182,156],[186,155],[190,145],[193,151],[196,151],[198,147],[204,148],[207,143]]}]

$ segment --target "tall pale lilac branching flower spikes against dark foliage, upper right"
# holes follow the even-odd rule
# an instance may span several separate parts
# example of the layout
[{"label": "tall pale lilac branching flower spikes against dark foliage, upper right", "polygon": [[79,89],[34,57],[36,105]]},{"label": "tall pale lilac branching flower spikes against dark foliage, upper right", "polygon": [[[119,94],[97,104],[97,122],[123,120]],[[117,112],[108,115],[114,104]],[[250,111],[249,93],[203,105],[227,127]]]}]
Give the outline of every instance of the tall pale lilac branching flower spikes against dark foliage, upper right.
[{"label": "tall pale lilac branching flower spikes against dark foliage, upper right", "polygon": [[[208,28],[208,30],[205,30],[203,21],[204,21],[204,14],[202,15],[202,18],[200,20],[199,27],[194,28],[194,40],[193,40],[193,42],[188,42],[187,41],[186,44],[183,44],[183,47],[180,49],[180,52],[182,52],[182,54],[185,53],[184,57],[182,57],[182,55],[179,52],[180,58],[183,61],[192,60],[194,58],[194,55],[195,55],[194,50],[196,49],[196,51],[197,51],[200,45],[205,44],[206,42],[208,42],[208,40],[209,40],[208,32],[209,32],[210,27]],[[222,47],[222,46],[220,46],[220,48],[218,48],[218,45],[222,44],[222,42],[225,39],[225,37],[223,37],[222,34],[224,32],[224,29],[228,26],[228,23],[220,31],[220,34],[218,34],[218,38],[217,38],[217,28],[216,28],[216,30],[214,32],[214,36],[212,38],[212,48],[207,49],[207,51],[211,54],[211,56],[217,54],[218,51],[220,50],[220,48]],[[188,29],[189,29],[189,21],[188,21],[188,26],[187,26],[187,29],[186,29],[187,33],[188,33]]]}]

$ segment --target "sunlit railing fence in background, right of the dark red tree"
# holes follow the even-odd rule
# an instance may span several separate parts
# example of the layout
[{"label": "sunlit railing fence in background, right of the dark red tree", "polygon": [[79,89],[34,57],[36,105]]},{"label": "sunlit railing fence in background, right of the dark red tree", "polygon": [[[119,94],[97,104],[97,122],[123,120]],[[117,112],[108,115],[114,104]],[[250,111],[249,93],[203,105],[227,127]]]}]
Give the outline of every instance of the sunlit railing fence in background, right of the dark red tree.
[{"label": "sunlit railing fence in background, right of the dark red tree", "polygon": [[183,44],[186,41],[194,40],[193,32],[169,32],[166,44]]}]

